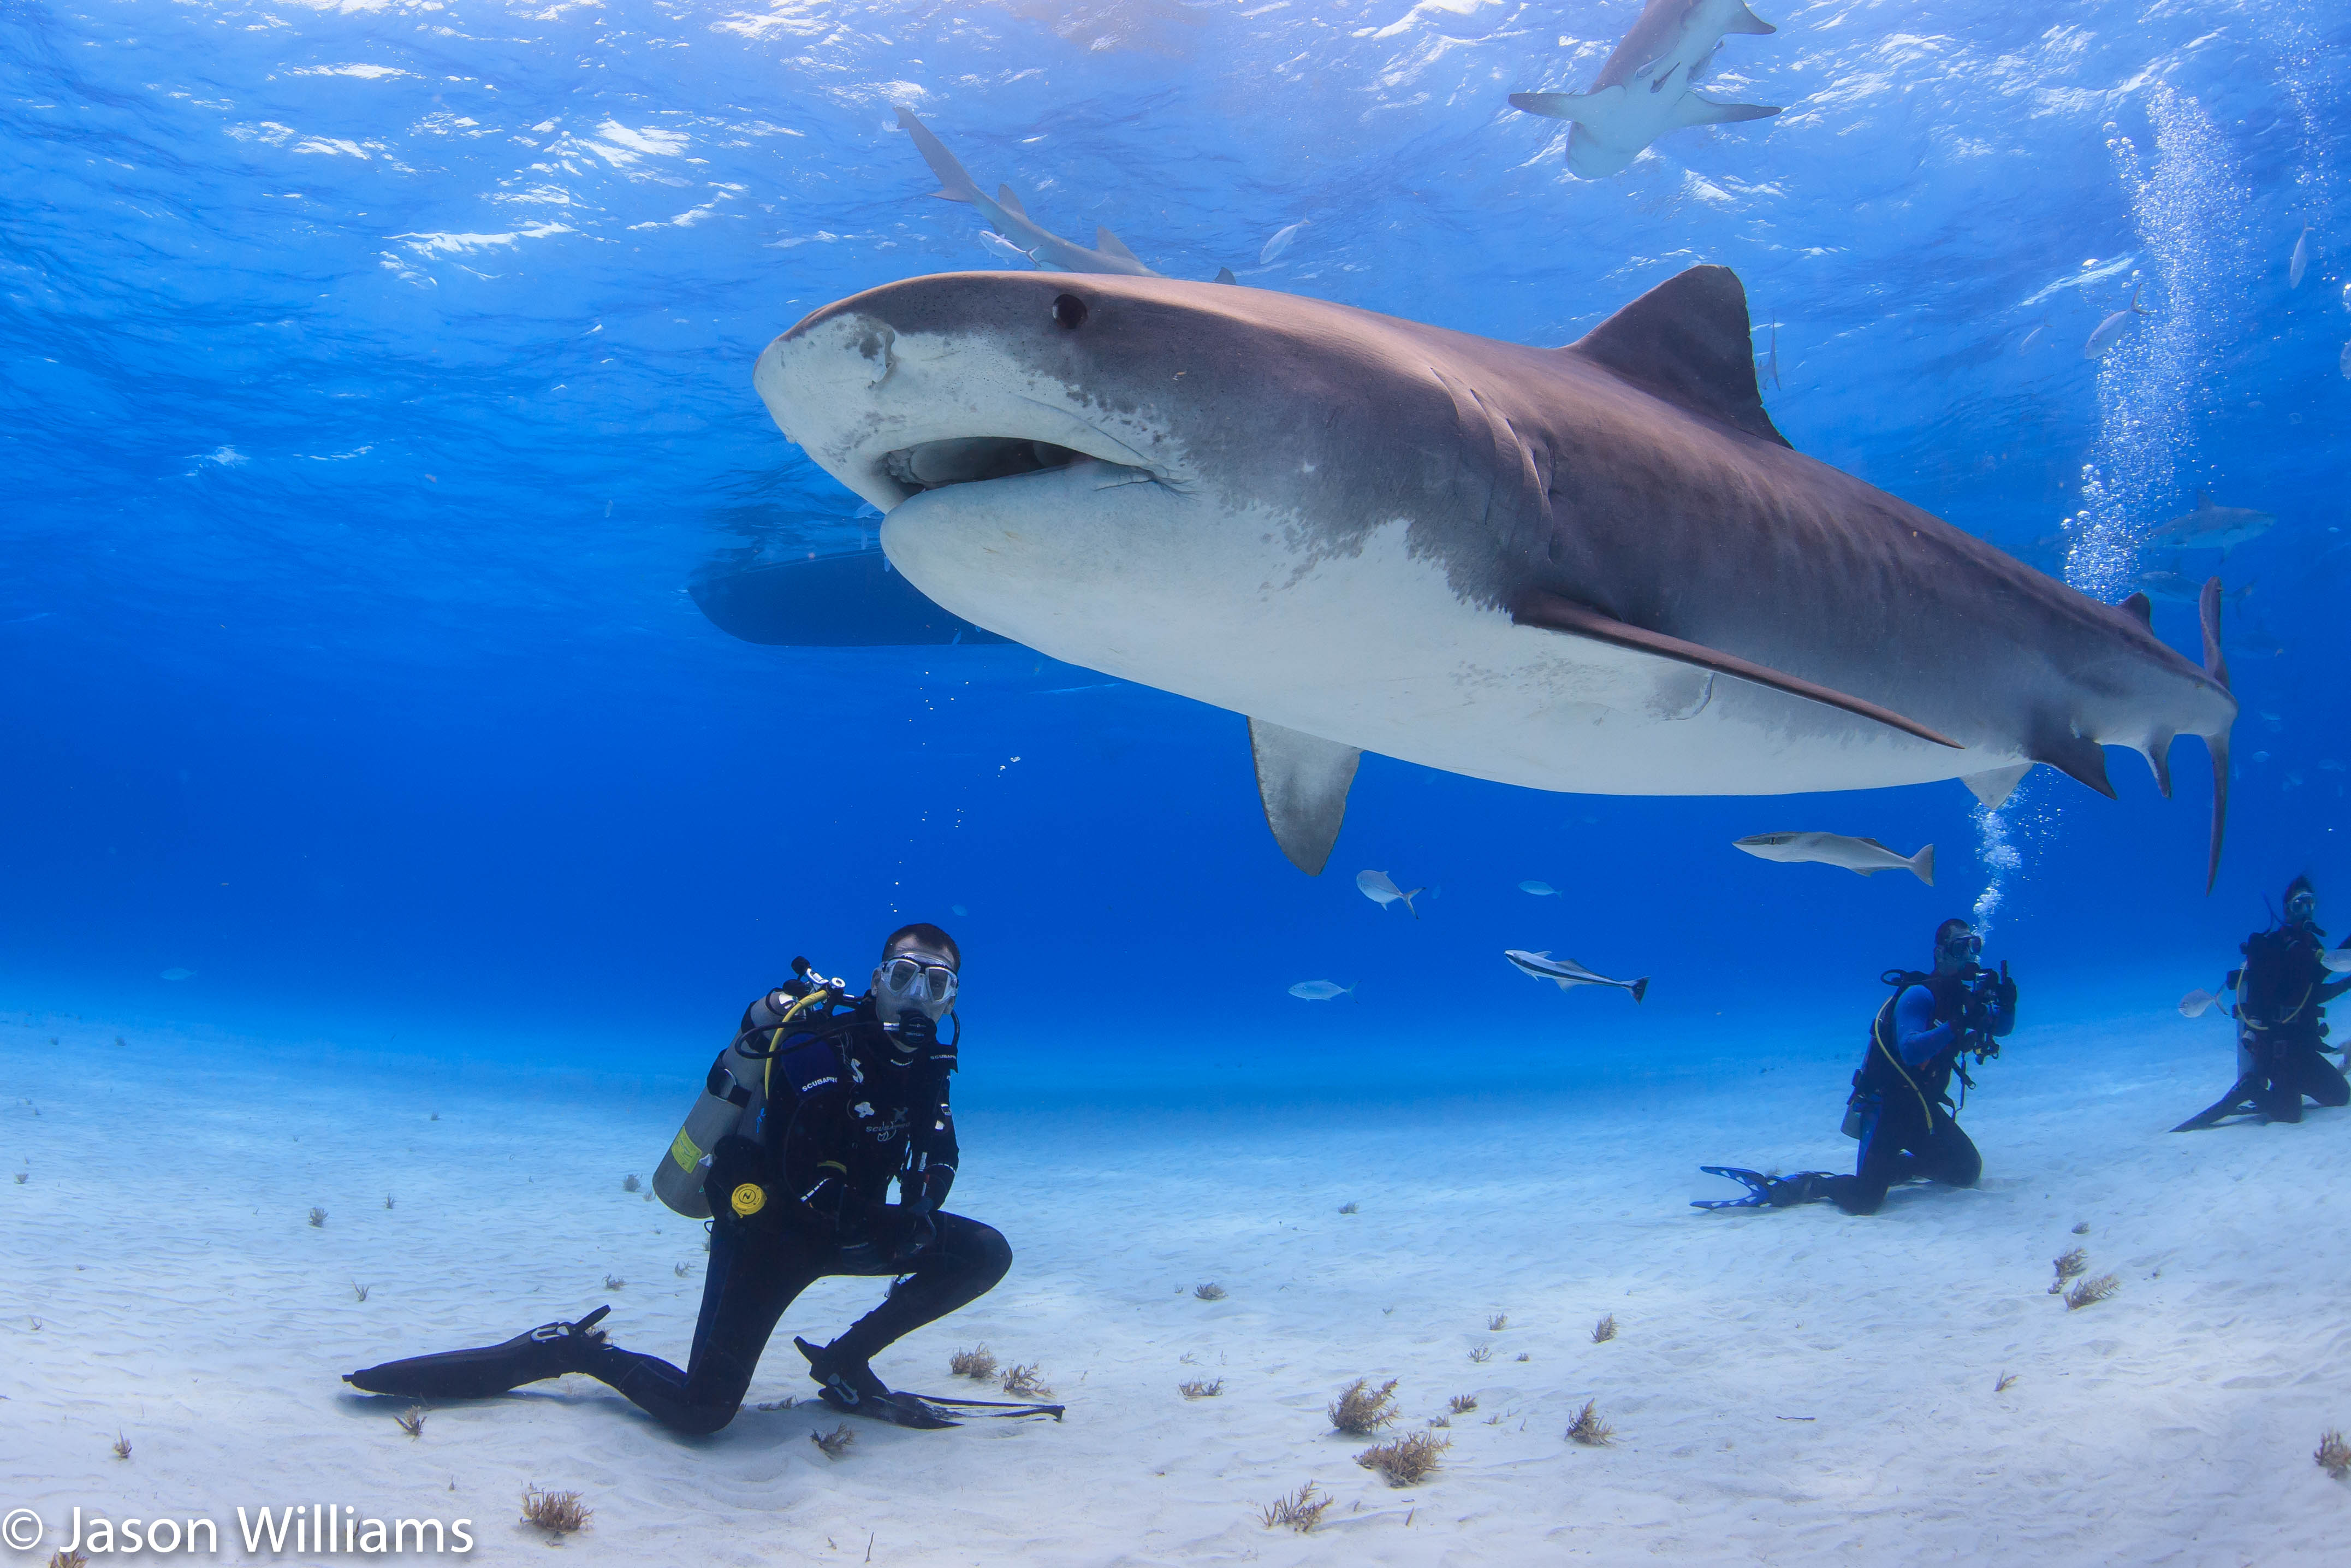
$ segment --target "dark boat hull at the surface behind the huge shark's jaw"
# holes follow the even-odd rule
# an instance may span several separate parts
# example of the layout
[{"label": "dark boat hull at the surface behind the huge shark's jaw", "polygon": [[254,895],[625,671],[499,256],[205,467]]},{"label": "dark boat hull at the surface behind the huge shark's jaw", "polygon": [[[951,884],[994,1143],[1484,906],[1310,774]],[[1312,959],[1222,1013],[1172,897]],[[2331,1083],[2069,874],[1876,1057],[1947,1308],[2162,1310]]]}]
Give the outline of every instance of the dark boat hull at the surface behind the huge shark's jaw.
[{"label": "dark boat hull at the surface behind the huge shark's jaw", "polygon": [[799,562],[705,564],[686,583],[715,628],[781,649],[903,649],[1011,642],[952,616],[879,550]]}]

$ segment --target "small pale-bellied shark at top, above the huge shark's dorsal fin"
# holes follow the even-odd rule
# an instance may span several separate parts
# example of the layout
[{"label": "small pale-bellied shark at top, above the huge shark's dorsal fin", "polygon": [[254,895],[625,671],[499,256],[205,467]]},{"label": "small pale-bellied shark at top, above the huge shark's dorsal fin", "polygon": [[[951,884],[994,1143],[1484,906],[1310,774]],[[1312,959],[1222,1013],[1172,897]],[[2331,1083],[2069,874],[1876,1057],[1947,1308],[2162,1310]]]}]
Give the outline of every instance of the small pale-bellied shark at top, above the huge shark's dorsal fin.
[{"label": "small pale-bellied shark at top, above the huge shark's dorsal fin", "polygon": [[1690,92],[1690,75],[1714,56],[1723,33],[1777,31],[1747,0],[1648,0],[1592,92],[1514,92],[1509,106],[1573,120],[1568,167],[1603,179],[1667,132],[1777,115],[1766,103],[1716,103]]}]

